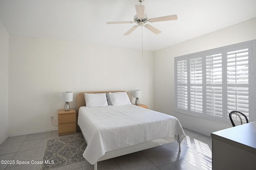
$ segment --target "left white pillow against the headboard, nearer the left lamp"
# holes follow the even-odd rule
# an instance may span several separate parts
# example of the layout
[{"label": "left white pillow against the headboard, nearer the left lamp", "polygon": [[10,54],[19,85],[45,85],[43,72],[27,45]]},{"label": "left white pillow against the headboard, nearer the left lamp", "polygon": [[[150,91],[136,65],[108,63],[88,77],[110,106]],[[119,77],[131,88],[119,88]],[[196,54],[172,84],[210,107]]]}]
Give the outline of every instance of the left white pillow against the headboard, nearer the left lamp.
[{"label": "left white pillow against the headboard, nearer the left lamp", "polygon": [[86,102],[86,107],[108,106],[106,93],[85,93],[84,100]]}]

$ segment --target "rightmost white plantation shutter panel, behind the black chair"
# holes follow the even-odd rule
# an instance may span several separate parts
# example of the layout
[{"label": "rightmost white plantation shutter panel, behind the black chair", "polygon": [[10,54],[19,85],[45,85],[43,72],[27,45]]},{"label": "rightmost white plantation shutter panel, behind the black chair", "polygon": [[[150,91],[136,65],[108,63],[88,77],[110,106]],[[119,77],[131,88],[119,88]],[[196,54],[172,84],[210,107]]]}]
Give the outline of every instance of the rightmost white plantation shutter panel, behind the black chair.
[{"label": "rightmost white plantation shutter panel, behind the black chair", "polygon": [[[240,111],[249,119],[248,48],[227,52],[227,109]],[[234,115],[234,119],[236,115]],[[244,119],[245,121],[245,119]]]}]

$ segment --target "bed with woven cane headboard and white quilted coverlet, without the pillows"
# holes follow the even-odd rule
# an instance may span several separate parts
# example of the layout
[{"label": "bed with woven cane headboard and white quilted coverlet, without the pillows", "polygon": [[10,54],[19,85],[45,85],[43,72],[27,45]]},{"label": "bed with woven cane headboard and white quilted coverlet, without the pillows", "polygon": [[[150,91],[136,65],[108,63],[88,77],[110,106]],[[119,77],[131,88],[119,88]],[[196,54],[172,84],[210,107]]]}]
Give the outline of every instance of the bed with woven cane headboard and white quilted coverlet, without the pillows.
[{"label": "bed with woven cane headboard and white quilted coverlet, without the pillows", "polygon": [[94,164],[94,170],[97,170],[99,161],[174,141],[179,143],[180,151],[185,133],[176,117],[131,103],[117,106],[104,103],[104,107],[90,107],[88,98],[85,102],[85,94],[102,96],[108,93],[126,94],[128,98],[126,91],[81,92],[77,96],[78,125],[87,143],[83,156]]}]

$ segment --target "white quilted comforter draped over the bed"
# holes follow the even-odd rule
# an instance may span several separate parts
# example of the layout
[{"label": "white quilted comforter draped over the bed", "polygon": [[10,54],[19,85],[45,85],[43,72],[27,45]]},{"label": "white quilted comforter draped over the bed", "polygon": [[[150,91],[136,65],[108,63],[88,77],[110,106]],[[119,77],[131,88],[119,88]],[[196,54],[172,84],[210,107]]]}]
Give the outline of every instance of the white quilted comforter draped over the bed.
[{"label": "white quilted comforter draped over the bed", "polygon": [[110,150],[185,133],[176,117],[130,105],[80,107],[78,125],[87,141],[84,158],[95,164]]}]

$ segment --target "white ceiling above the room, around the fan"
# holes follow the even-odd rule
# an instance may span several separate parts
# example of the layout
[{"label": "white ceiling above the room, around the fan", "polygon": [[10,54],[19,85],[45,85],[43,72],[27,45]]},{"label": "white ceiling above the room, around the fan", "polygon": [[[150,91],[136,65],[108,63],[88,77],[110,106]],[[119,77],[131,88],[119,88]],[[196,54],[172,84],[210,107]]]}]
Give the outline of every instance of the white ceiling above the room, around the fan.
[{"label": "white ceiling above the room, around the fan", "polygon": [[256,0],[145,0],[148,18],[177,14],[178,20],[150,23],[156,35],[132,21],[138,0],[0,0],[0,20],[9,34],[126,49],[156,51],[256,17]]}]

